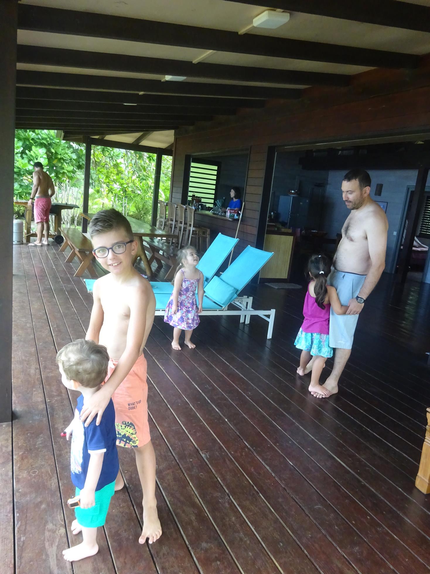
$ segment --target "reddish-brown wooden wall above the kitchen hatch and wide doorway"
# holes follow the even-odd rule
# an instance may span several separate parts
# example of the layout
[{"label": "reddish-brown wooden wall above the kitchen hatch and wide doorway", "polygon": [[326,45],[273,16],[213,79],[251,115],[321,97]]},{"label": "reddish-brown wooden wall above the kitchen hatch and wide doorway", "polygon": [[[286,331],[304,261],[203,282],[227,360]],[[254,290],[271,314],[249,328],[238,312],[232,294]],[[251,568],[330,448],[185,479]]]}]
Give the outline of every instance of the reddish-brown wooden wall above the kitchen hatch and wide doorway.
[{"label": "reddish-brown wooden wall above the kitchen hatch and wide doorway", "polygon": [[[355,76],[353,85],[347,88],[308,88],[306,97],[296,102],[271,102],[222,124],[217,121],[188,132],[179,131],[175,138],[172,200],[180,201],[182,197],[186,154],[250,146],[243,218],[247,236],[240,235],[240,243],[255,245],[251,229],[256,233],[268,146],[384,137],[413,130],[430,133],[430,58],[423,62],[413,73],[364,72]],[[231,230],[221,223],[217,223],[220,231]]]}]

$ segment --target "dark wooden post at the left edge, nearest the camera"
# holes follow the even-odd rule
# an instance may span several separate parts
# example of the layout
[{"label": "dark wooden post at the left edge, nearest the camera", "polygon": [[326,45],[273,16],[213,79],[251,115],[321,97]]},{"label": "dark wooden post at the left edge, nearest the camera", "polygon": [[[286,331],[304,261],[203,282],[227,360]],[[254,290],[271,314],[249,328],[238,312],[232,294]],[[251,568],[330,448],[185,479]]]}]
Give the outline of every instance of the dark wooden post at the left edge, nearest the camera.
[{"label": "dark wooden post at the left edge, nearest the camera", "polygon": [[15,83],[17,71],[17,0],[0,2],[0,422],[12,420],[12,276]]}]

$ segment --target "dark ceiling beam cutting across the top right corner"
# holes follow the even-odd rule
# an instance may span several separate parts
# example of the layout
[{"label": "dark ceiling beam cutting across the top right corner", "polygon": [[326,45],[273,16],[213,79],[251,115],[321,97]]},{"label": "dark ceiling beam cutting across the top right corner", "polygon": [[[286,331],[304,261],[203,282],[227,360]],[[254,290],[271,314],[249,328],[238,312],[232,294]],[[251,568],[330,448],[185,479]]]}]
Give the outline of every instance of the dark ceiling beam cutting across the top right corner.
[{"label": "dark ceiling beam cutting across the top right corner", "polygon": [[[230,0],[261,6],[261,0]],[[393,0],[267,0],[264,6],[366,24],[430,32],[430,7]]]}]

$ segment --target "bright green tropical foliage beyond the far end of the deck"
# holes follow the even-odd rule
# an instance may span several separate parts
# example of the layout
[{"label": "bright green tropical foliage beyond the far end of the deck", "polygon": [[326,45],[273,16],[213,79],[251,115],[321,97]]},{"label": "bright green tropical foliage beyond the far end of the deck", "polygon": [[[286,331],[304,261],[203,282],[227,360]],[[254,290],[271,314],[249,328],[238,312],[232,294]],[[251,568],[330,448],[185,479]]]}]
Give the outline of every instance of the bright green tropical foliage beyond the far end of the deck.
[{"label": "bright green tropical foliage beyond the far end of the deck", "polygon": [[[33,164],[40,161],[56,187],[56,201],[82,205],[84,146],[61,141],[54,131],[15,132],[16,199],[28,199],[33,184]],[[160,199],[169,197],[171,157],[163,156]],[[149,221],[153,201],[155,154],[93,146],[89,211],[114,207],[125,215]],[[19,211],[19,208],[15,211]],[[64,211],[64,223],[77,225],[79,210]]]}]

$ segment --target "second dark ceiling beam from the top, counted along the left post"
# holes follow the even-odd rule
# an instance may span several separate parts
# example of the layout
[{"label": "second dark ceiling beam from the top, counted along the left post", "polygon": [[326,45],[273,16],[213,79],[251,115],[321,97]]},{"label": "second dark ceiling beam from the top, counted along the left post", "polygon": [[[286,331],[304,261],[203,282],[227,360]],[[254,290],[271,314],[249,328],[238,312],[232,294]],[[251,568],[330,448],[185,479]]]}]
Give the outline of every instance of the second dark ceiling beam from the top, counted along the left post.
[{"label": "second dark ceiling beam from the top, counted along the left post", "polygon": [[172,76],[236,80],[237,82],[293,84],[296,86],[348,86],[350,82],[350,76],[335,73],[254,68],[225,64],[199,63],[196,65],[183,60],[87,52],[64,48],[46,48],[45,46],[18,45],[17,61],[20,64],[65,66],[157,75],[170,74]]}]

